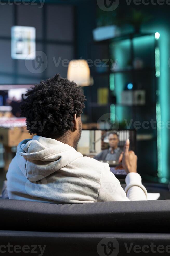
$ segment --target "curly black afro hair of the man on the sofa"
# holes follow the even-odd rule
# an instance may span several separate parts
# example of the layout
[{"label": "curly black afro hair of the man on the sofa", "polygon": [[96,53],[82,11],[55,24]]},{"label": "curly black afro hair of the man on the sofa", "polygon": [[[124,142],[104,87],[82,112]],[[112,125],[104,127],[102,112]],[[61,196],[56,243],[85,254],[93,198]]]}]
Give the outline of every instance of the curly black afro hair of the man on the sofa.
[{"label": "curly black afro hair of the man on the sofa", "polygon": [[21,116],[26,117],[27,130],[48,138],[73,129],[73,116],[81,115],[86,101],[81,88],[60,74],[34,85],[25,96]]}]

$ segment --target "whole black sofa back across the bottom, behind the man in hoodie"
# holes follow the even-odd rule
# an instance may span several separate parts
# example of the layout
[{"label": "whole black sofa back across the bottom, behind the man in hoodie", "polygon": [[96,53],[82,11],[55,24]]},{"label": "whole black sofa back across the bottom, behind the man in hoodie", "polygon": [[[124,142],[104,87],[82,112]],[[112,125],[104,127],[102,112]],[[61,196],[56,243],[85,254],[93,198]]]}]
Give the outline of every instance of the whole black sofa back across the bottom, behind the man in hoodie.
[{"label": "whole black sofa back across the bottom, behind the man in hoodie", "polygon": [[3,255],[170,255],[168,200],[55,205],[1,199],[0,217]]}]

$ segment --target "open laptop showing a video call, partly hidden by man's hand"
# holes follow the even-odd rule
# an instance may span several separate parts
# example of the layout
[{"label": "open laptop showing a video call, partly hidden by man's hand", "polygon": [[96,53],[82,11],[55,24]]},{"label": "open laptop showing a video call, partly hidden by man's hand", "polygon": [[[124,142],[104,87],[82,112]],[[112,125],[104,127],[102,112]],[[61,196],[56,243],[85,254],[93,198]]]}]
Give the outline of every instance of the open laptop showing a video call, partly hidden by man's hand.
[{"label": "open laptop showing a video call, partly hidden by man's hand", "polygon": [[[82,130],[77,151],[100,162],[106,162],[110,171],[119,179],[126,177],[126,171],[119,163],[126,139],[130,150],[136,153],[136,130]],[[115,150],[113,150],[115,148]]]}]

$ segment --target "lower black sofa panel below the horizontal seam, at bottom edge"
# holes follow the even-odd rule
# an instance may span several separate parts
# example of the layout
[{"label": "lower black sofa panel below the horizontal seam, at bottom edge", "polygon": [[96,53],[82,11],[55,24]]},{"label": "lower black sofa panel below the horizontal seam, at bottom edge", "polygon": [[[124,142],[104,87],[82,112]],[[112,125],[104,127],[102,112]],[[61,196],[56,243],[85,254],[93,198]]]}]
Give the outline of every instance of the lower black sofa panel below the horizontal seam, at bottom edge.
[{"label": "lower black sofa panel below the horizontal seam, at bottom edge", "polygon": [[[104,240],[103,240],[104,239]],[[166,246],[170,244],[169,234],[151,234],[151,233],[50,233],[50,232],[32,232],[32,231],[1,231],[0,240],[2,245],[10,243],[14,249],[15,245],[29,246],[30,253],[4,253],[4,255],[42,255],[40,246],[43,249],[43,256],[106,256],[104,254],[104,243],[107,246],[108,241],[112,241],[114,250],[111,256],[118,255],[161,255],[161,253],[155,253],[158,251],[159,246],[164,246],[163,255],[169,255],[166,253]],[[116,242],[117,241],[117,242]],[[153,250],[151,251],[151,244],[153,243]],[[135,246],[137,245],[136,251]],[[143,249],[140,249],[140,247]],[[149,248],[146,248],[149,246]],[[1,248],[2,251],[8,250],[6,247]],[[31,253],[31,251],[34,252]],[[128,251],[129,250],[129,251]],[[35,253],[37,251],[37,253]],[[141,251],[141,252],[140,252]],[[146,253],[146,251],[149,251]],[[162,250],[161,250],[162,251]],[[8,252],[8,251],[7,251]],[[108,252],[108,251],[107,251]],[[117,254],[117,253],[118,254]]]}]

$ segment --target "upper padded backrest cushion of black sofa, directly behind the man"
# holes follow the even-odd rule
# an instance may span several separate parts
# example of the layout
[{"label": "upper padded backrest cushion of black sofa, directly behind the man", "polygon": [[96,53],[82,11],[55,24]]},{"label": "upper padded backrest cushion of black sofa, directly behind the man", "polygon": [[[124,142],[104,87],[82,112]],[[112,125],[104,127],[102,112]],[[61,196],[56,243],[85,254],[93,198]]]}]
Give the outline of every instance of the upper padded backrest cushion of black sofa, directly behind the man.
[{"label": "upper padded backrest cushion of black sofa, directly behind the man", "polygon": [[168,233],[170,201],[56,205],[0,199],[1,230]]}]

